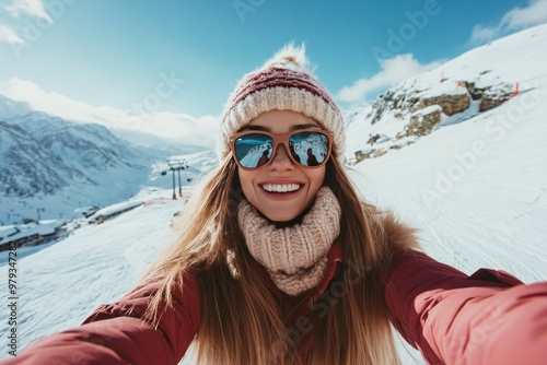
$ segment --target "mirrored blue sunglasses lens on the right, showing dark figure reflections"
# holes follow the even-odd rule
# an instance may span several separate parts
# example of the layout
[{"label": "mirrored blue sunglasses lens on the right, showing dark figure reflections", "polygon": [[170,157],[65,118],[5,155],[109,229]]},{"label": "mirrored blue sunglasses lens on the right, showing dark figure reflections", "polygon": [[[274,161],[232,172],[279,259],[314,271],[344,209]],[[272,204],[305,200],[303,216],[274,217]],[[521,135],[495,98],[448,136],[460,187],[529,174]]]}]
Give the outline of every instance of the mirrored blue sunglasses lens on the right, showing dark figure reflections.
[{"label": "mirrored blue sunglasses lens on the right, showing dark figure reflections", "polygon": [[294,160],[304,166],[318,166],[328,155],[328,137],[321,132],[300,132],[289,138]]}]

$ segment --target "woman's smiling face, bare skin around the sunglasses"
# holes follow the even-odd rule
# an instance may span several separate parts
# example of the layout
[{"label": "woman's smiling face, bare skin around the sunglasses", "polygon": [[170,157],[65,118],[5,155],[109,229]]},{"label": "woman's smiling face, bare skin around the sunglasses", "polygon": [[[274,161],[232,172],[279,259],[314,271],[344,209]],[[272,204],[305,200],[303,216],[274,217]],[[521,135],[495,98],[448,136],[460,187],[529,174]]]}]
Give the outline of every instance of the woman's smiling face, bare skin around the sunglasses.
[{"label": "woman's smiling face, bare skin around the sunglasses", "polygon": [[[274,134],[284,134],[314,127],[321,129],[314,119],[301,113],[270,110],[251,120],[242,130],[257,129]],[[290,221],[309,208],[325,178],[326,164],[306,168],[293,163],[287,153],[284,145],[279,145],[274,161],[266,167],[254,170],[238,167],[245,198],[260,213],[275,222]]]}]

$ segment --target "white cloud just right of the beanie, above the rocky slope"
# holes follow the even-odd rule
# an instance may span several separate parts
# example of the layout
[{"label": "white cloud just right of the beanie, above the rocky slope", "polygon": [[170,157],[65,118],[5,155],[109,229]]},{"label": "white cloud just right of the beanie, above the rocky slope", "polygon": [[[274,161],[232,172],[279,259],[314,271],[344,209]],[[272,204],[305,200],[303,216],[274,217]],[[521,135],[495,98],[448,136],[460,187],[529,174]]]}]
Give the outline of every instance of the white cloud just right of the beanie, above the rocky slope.
[{"label": "white cloud just right of the beanie, above the rocky slope", "polygon": [[398,55],[383,60],[381,62],[382,70],[373,76],[359,79],[351,86],[342,87],[338,92],[337,98],[347,103],[363,102],[368,98],[369,93],[393,87],[410,76],[439,66],[441,66],[439,61],[421,64],[411,54]]}]

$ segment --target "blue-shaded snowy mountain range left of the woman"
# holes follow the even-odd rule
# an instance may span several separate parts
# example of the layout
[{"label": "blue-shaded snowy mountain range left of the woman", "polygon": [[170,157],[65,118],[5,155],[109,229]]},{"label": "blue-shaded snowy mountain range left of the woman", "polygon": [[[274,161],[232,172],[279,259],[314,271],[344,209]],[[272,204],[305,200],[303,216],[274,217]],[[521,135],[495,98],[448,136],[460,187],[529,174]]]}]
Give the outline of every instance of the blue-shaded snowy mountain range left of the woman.
[{"label": "blue-shaded snowy mountain range left of the woman", "polygon": [[0,95],[0,225],[71,219],[79,207],[127,199],[156,177],[153,164],[181,151],[137,146],[103,126],[69,122]]}]

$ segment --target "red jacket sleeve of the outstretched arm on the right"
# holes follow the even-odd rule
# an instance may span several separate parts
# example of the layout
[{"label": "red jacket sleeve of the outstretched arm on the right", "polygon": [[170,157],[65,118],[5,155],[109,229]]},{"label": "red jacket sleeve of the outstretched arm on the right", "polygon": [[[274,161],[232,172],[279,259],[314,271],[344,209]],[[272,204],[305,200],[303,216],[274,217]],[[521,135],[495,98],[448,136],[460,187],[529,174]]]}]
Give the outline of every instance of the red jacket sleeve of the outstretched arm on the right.
[{"label": "red jacket sleeve of the outstretched arm on the right", "polygon": [[394,327],[429,364],[545,364],[547,282],[504,271],[468,276],[424,254],[395,260],[385,298]]}]

